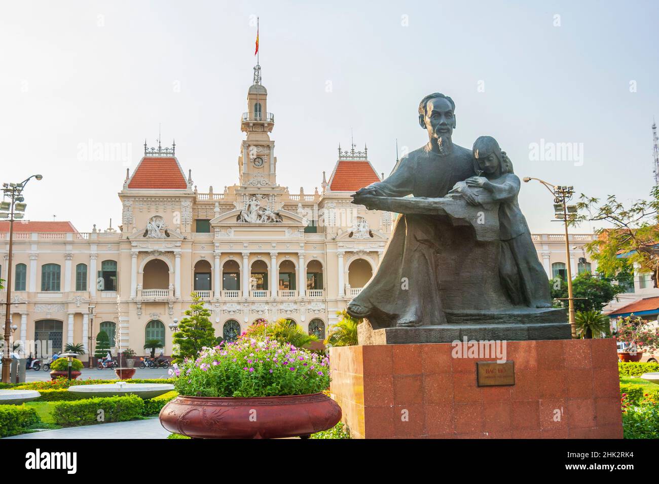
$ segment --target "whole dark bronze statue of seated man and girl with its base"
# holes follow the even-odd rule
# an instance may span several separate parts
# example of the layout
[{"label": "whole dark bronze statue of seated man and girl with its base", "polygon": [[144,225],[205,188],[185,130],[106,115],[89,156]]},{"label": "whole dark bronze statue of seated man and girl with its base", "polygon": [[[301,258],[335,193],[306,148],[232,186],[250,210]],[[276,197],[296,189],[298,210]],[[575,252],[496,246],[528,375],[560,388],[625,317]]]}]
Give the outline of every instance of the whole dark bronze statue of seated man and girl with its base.
[{"label": "whole dark bronze statue of seated man and girl with its base", "polygon": [[[357,205],[400,215],[380,266],[348,313],[373,330],[432,329],[385,332],[392,338],[385,342],[451,342],[467,333],[569,338],[565,312],[551,308],[505,152],[490,136],[472,150],[453,144],[455,103],[444,94],[424,97],[418,113],[428,144],[353,195]],[[362,234],[359,224],[353,232]]]}]

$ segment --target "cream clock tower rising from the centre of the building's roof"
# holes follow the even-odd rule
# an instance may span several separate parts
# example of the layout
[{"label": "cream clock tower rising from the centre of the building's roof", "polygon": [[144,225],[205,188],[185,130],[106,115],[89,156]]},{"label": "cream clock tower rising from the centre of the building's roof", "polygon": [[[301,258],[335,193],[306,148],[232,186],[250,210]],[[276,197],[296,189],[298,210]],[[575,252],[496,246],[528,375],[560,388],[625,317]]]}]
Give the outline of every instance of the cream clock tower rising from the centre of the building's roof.
[{"label": "cream clock tower rising from the centre of the building's roof", "polygon": [[247,134],[238,157],[241,187],[277,186],[275,142],[269,135],[274,126],[275,117],[268,113],[268,90],[261,84],[261,67],[256,65],[254,84],[247,92],[247,111],[241,119],[241,131]]}]

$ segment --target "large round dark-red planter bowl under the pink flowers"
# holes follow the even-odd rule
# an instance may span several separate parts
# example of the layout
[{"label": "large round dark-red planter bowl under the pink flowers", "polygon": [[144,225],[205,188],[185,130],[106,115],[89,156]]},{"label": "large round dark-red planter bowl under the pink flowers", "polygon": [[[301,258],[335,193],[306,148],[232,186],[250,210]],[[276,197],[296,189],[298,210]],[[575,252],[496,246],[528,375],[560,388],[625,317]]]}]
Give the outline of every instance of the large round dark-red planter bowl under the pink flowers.
[{"label": "large round dark-red planter bowl under the pink flowers", "polygon": [[193,439],[307,437],[341,420],[339,405],[322,393],[258,398],[177,396],[160,411],[160,423]]}]

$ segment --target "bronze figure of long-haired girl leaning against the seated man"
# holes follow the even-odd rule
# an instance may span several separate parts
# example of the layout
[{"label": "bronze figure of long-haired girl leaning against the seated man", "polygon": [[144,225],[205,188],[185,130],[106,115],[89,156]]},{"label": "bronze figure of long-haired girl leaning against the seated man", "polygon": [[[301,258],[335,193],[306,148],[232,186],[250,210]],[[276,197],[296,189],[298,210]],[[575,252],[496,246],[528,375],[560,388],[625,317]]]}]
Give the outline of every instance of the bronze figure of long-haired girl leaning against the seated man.
[{"label": "bronze figure of long-haired girl leaning against the seated man", "polygon": [[[473,158],[479,176],[471,176],[460,184],[482,188],[489,195],[487,198],[500,203],[499,275],[503,290],[513,304],[551,308],[549,281],[517,203],[520,183],[510,159],[492,136],[480,136],[474,142]],[[459,187],[456,189],[459,191]]]}]

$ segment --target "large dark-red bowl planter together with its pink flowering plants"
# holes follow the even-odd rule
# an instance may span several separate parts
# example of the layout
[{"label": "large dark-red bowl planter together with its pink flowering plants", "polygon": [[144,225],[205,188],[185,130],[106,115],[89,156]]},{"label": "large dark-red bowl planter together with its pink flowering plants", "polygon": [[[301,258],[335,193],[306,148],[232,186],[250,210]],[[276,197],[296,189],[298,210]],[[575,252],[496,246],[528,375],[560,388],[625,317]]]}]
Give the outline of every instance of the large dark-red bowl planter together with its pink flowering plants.
[{"label": "large dark-red bowl planter together with its pink flowering plants", "polygon": [[322,392],[329,359],[269,336],[241,335],[175,364],[179,396],[159,414],[170,432],[197,439],[308,437],[331,429],[341,408]]}]

